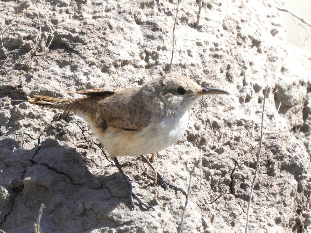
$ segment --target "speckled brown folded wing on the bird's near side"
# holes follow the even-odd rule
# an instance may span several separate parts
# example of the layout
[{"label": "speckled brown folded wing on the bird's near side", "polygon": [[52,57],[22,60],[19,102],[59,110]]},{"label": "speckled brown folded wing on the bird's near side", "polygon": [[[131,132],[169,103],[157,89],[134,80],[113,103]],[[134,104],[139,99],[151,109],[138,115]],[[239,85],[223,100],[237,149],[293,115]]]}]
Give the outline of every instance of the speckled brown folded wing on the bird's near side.
[{"label": "speckled brown folded wing on the bird's near side", "polygon": [[113,90],[111,94],[107,91],[92,90],[77,92],[93,97],[78,98],[76,101],[106,121],[109,126],[124,132],[135,132],[149,125],[151,112],[147,111],[140,88],[110,89]]}]

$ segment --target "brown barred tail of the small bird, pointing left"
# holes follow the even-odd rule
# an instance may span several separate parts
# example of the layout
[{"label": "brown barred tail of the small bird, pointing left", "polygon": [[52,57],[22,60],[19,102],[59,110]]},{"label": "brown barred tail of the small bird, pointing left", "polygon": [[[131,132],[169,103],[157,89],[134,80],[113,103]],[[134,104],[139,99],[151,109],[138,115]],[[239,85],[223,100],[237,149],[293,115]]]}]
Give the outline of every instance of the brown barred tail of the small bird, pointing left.
[{"label": "brown barred tail of the small bird, pointing left", "polygon": [[80,103],[75,100],[59,99],[43,95],[34,95],[34,98],[30,98],[27,96],[27,98],[29,103],[69,112],[75,112],[76,110],[81,110],[84,108]]}]

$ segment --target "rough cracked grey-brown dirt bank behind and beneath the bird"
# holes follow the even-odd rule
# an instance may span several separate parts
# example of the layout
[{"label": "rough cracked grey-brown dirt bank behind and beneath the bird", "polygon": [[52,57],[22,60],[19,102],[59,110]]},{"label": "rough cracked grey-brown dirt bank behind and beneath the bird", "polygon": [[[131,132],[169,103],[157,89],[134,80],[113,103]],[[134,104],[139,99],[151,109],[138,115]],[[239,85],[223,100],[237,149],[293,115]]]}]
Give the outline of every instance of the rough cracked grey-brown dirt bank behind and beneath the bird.
[{"label": "rough cracked grey-brown dirt bank behind and beneath the bird", "polygon": [[[286,43],[276,9],[283,3],[267,2],[203,1],[198,30],[197,3],[180,2],[173,72],[232,93],[194,105],[183,138],[154,162],[187,189],[202,148],[184,232],[244,231],[266,85],[249,232],[311,231],[310,54]],[[129,210],[122,177],[81,118],[59,120],[59,111],[15,101],[76,98],[67,91],[141,86],[164,74],[177,2],[49,0],[44,11],[35,4],[40,21],[31,1],[0,3],[1,31],[10,26],[0,71],[1,230],[33,232],[44,203],[43,232],[176,232],[185,198],[152,186],[140,158],[120,162],[155,211]]]}]

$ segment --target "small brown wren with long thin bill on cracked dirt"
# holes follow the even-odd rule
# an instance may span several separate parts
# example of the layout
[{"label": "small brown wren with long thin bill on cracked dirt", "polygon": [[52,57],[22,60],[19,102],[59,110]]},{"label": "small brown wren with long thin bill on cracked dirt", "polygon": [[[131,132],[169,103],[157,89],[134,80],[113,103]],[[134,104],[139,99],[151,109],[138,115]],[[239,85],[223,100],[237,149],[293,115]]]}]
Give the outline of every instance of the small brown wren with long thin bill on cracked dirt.
[{"label": "small brown wren with long thin bill on cracked dirt", "polygon": [[82,117],[100,139],[128,185],[131,208],[133,198],[152,208],[138,197],[122,171],[119,156],[141,156],[155,172],[155,181],[186,192],[169,183],[156,171],[146,154],[157,153],[177,142],[188,124],[188,109],[200,97],[230,94],[214,88],[201,87],[186,76],[165,74],[146,82],[142,87],[126,89],[87,89],[77,92],[86,98],[75,100],[34,95],[28,101],[35,105],[74,112]]}]

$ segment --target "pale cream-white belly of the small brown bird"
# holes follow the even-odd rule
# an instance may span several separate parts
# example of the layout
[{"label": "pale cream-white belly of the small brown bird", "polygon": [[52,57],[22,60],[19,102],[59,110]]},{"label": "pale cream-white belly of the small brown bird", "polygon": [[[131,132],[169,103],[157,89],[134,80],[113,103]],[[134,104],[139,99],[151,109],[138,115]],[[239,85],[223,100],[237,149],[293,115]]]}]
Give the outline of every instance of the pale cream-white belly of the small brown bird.
[{"label": "pale cream-white belly of the small brown bird", "polygon": [[152,123],[138,132],[127,133],[111,126],[103,132],[101,128],[96,128],[92,124],[89,117],[83,115],[81,117],[89,123],[91,130],[112,157],[140,156],[159,152],[177,142],[183,136],[188,124],[188,112],[186,112],[180,118],[172,117]]}]

